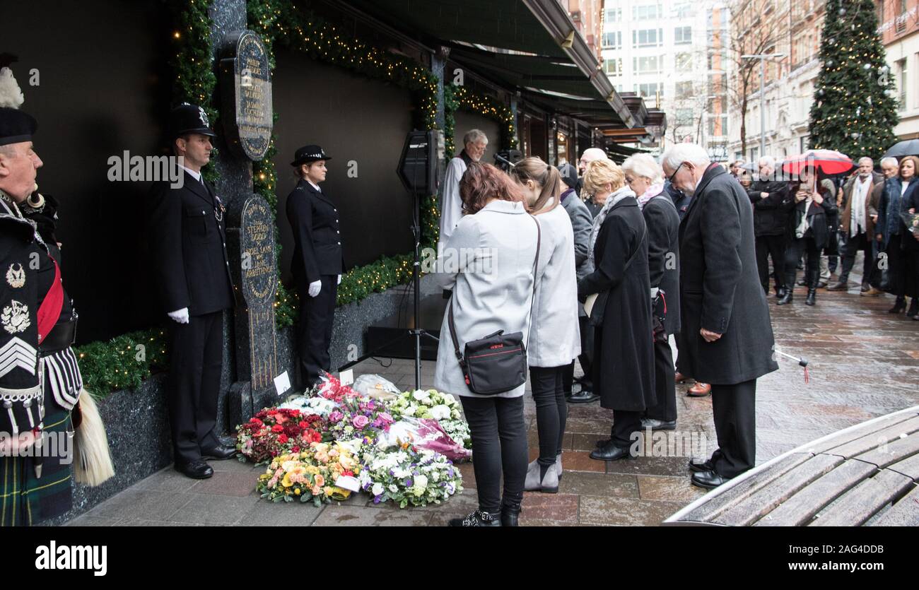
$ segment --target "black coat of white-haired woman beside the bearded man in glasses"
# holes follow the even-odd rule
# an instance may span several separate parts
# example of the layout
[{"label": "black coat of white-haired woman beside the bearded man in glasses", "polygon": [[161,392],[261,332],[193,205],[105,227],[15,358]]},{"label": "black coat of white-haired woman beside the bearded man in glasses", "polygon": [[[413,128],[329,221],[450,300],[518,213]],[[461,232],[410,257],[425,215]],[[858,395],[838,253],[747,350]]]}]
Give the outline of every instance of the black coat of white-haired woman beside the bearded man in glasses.
[{"label": "black coat of white-haired woman beside the bearded man in glasses", "polygon": [[645,203],[641,216],[648,226],[651,287],[664,291],[664,330],[676,334],[680,331],[680,216],[666,194]]}]

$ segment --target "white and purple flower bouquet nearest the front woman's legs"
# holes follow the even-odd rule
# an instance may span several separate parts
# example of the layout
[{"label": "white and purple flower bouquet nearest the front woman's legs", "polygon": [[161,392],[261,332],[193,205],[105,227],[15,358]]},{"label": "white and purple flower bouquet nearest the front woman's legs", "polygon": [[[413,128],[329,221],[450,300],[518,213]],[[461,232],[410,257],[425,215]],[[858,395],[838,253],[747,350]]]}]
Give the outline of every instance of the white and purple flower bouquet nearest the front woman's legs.
[{"label": "white and purple flower bouquet nearest the front woman's legs", "polygon": [[440,504],[462,492],[462,475],[443,455],[403,444],[394,452],[365,447],[361,456],[360,487],[374,504],[391,501],[407,505]]}]

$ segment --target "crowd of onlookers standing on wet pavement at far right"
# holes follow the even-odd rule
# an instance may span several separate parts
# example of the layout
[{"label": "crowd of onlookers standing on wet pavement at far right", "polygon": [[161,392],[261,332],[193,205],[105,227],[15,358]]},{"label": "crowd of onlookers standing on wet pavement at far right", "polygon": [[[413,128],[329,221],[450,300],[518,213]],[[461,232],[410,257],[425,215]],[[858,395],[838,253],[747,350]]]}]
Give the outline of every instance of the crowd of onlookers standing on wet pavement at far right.
[{"label": "crowd of onlookers standing on wet pavement at far right", "polygon": [[817,289],[848,290],[860,251],[861,295],[891,293],[896,300],[890,312],[919,321],[919,233],[907,229],[919,210],[919,158],[885,157],[876,171],[874,161],[863,157],[851,173],[834,176],[805,166],[791,179],[770,156],[756,164],[755,175],[743,161],[734,162],[731,172],[753,204],[759,278],[768,293],[771,258],[778,305],[794,300],[799,269],[804,276],[797,285],[807,288],[808,305],[816,304]]}]

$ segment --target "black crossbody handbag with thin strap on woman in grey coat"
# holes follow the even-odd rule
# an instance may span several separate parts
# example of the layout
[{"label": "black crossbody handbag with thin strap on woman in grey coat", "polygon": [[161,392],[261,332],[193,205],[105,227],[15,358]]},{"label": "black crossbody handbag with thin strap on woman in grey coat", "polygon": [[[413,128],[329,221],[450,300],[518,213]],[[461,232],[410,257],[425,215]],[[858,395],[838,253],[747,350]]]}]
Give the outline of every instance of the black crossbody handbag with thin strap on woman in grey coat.
[{"label": "black crossbody handbag with thin strap on woman in grey coat", "polygon": [[[533,301],[536,299],[536,270],[539,265],[539,242],[542,232],[536,222],[536,260],[533,261],[533,297],[530,299],[530,325],[533,322]],[[455,292],[455,291],[454,291]],[[479,395],[495,395],[511,391],[527,382],[527,346],[523,344],[523,333],[505,334],[498,330],[479,340],[467,342],[465,354],[459,351],[456,325],[453,323],[453,299],[448,312],[450,337],[456,352],[459,368],[469,391]]]}]

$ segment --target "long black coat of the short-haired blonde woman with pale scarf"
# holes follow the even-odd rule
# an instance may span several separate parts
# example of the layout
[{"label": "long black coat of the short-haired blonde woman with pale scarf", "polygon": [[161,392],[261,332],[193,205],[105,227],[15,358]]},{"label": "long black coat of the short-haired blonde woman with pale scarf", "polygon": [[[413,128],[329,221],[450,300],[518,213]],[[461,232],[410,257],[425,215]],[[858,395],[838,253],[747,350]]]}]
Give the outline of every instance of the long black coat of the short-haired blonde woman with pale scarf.
[{"label": "long black coat of the short-haired blonde woman with pale scarf", "polygon": [[634,197],[619,201],[607,212],[596,236],[596,270],[578,282],[581,296],[608,291],[603,325],[595,332],[593,363],[594,391],[607,409],[640,412],[656,403],[651,279],[644,233],[638,201]]}]

